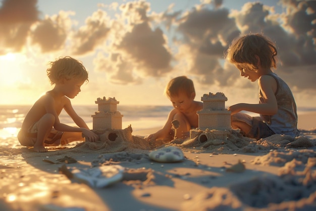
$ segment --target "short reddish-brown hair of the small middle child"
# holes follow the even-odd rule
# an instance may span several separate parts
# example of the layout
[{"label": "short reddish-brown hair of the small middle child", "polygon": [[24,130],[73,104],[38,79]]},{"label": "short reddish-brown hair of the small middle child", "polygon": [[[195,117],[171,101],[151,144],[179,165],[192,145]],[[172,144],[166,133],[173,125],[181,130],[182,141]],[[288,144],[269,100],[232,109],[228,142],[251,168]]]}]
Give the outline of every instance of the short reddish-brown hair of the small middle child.
[{"label": "short reddish-brown hair of the small middle child", "polygon": [[166,86],[165,94],[170,98],[178,96],[179,93],[185,93],[188,97],[195,93],[193,81],[187,76],[179,76],[171,79]]}]

